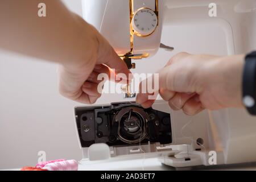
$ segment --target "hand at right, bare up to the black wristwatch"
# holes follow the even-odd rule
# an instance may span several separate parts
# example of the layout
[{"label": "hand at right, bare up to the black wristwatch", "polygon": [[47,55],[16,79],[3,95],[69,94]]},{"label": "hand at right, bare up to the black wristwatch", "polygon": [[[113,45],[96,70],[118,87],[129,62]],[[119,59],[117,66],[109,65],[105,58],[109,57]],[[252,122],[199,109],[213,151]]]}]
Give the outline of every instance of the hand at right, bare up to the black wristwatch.
[{"label": "hand at right, bare up to the black wristwatch", "polygon": [[[188,115],[203,109],[243,107],[243,60],[244,55],[221,57],[178,53],[158,72],[159,90],[155,92],[159,91],[173,110],[182,109]],[[138,104],[150,107],[154,103],[148,100],[150,94],[139,93]]]}]

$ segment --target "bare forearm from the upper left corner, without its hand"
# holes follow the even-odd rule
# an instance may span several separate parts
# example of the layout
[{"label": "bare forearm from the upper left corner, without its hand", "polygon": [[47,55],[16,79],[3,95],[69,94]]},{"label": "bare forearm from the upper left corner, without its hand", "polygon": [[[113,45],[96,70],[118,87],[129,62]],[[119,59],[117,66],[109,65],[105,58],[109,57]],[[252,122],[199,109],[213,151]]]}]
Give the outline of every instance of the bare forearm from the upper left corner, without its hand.
[{"label": "bare forearm from the upper left corner, without its hand", "polygon": [[[38,16],[41,2],[46,17]],[[86,40],[95,37],[89,24],[59,0],[1,1],[0,22],[0,48],[62,64],[82,64],[90,51]]]}]

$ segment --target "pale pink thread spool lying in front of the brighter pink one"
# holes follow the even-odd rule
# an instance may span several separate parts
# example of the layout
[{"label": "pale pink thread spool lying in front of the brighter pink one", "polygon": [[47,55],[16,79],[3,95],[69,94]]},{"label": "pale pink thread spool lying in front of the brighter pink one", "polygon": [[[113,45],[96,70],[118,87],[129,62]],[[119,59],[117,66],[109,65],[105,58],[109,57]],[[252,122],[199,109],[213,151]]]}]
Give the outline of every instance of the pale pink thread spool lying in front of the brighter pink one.
[{"label": "pale pink thread spool lying in front of the brighter pink one", "polygon": [[48,163],[42,169],[48,171],[77,171],[78,163],[76,160],[65,160],[55,163]]}]

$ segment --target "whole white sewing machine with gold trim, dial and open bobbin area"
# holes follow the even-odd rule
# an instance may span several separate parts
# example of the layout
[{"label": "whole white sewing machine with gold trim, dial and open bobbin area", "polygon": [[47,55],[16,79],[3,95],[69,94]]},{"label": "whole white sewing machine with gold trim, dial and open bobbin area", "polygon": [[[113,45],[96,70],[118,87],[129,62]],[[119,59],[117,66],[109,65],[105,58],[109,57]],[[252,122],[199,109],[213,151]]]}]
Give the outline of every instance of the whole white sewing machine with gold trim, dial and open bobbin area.
[{"label": "whole white sewing machine with gold trim, dial and open bobbin area", "polygon": [[[233,55],[256,48],[256,2],[253,0],[85,0],[83,9],[85,20],[108,39],[127,67],[135,71],[154,73],[180,51]],[[151,134],[147,134],[150,137],[143,138],[146,140],[137,137],[136,142],[131,142],[125,140],[120,135],[122,130],[118,129],[122,126],[122,117],[126,117],[123,119],[126,127],[132,124],[127,123],[131,110],[122,109],[139,108],[138,115],[141,108],[130,102],[133,98],[123,100],[116,96],[121,103],[111,105],[112,100],[104,96],[99,105],[75,108],[84,158],[81,163],[157,158],[167,166],[181,168],[256,162],[256,119],[245,110],[205,110],[189,117],[181,111],[172,111],[159,99],[152,110],[142,111],[148,117],[143,123],[152,121],[148,113],[162,112],[161,116],[156,114],[154,127],[167,123],[170,133],[164,136],[169,139],[151,140]],[[102,138],[98,129],[106,118],[102,119],[97,113],[111,109],[119,113],[115,137],[121,143]],[[136,117],[136,111],[132,111]],[[114,118],[118,113],[114,113]],[[86,124],[88,118],[90,125]]]}]

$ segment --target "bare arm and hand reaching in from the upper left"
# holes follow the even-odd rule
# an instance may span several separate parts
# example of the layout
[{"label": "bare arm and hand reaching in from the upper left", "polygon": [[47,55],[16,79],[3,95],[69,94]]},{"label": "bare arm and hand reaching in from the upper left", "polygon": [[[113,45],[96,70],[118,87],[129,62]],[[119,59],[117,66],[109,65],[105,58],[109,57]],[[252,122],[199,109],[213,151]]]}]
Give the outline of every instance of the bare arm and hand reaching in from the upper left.
[{"label": "bare arm and hand reaching in from the upper left", "polygon": [[[38,16],[42,2],[46,17]],[[130,73],[108,41],[59,0],[0,1],[0,22],[0,48],[59,63],[59,90],[71,100],[94,103],[97,75],[109,68]]]}]

